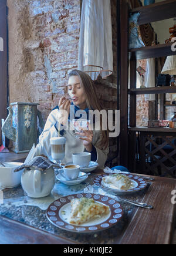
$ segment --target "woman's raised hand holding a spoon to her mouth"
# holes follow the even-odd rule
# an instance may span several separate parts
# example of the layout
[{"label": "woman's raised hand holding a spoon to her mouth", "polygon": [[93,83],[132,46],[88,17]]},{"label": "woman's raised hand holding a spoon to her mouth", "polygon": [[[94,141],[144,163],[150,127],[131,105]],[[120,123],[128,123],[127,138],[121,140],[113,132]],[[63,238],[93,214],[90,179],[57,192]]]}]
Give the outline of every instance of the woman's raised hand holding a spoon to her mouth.
[{"label": "woman's raised hand holding a spoon to her mouth", "polygon": [[70,100],[66,97],[61,97],[59,100],[59,122],[63,125],[67,124],[67,120],[70,114]]}]

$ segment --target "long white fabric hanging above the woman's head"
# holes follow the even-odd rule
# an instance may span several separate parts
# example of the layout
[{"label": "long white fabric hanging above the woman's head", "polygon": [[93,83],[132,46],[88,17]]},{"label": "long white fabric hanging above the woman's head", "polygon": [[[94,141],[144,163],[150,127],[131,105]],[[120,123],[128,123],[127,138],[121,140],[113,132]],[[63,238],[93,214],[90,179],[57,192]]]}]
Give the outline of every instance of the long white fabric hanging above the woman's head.
[{"label": "long white fabric hanging above the woman's head", "polygon": [[78,68],[93,80],[113,72],[110,0],[83,0]]}]

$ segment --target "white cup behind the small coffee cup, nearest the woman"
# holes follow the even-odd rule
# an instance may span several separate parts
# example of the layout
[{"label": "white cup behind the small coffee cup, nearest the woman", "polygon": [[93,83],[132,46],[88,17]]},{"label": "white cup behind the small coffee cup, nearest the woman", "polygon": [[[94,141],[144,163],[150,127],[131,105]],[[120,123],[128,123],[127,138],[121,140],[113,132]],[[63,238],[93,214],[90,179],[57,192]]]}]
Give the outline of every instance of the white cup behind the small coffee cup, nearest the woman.
[{"label": "white cup behind the small coffee cup, nearest the woman", "polygon": [[73,164],[77,164],[80,168],[88,167],[91,161],[91,153],[81,152],[72,154]]}]

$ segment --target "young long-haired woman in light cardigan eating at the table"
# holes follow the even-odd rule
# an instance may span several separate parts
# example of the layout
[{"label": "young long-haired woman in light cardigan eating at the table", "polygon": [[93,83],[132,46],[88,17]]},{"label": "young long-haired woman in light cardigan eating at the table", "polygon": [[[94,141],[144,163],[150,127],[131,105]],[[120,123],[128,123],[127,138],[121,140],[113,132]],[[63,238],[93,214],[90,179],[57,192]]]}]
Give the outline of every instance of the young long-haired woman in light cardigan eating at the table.
[{"label": "young long-haired woman in light cardigan eating at the table", "polygon": [[[81,113],[84,110],[84,113],[87,114],[86,119],[89,119],[89,110],[102,110],[96,96],[94,83],[86,73],[73,70],[69,73],[67,89],[72,102],[66,97],[62,97],[59,100],[59,105],[49,114],[44,130],[39,137],[35,155],[45,154],[50,157],[50,138],[57,137],[58,130],[60,130],[60,136],[66,138],[63,163],[72,161],[73,153],[88,151],[92,153],[92,161],[97,161],[100,168],[103,168],[109,153],[109,144],[107,130],[101,129],[102,119],[100,119],[99,130],[89,129],[82,131],[82,133],[75,133],[75,130],[70,129],[72,119],[81,117],[77,117],[76,112]],[[76,135],[80,137],[77,138]]]}]

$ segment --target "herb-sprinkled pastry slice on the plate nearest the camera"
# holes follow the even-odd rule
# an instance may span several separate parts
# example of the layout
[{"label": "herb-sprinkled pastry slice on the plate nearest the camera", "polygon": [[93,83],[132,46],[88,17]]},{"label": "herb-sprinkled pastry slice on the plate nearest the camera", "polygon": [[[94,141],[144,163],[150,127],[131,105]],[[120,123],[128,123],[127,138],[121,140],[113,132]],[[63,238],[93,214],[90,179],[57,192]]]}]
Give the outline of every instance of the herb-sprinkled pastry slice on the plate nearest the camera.
[{"label": "herb-sprinkled pastry slice on the plate nearest the camera", "polygon": [[71,200],[70,224],[80,225],[87,221],[101,218],[110,213],[109,206],[97,203],[91,198],[74,198]]}]

